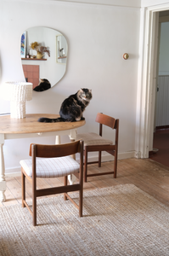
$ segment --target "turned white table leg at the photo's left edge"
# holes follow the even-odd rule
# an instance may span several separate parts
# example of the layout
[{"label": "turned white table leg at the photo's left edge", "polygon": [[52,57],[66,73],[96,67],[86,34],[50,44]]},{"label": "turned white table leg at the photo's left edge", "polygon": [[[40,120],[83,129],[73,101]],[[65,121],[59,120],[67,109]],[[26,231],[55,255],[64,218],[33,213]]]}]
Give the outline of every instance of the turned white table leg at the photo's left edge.
[{"label": "turned white table leg at the photo's left edge", "polygon": [[3,157],[3,143],[0,144],[0,201],[6,201],[5,190],[6,190],[6,181],[5,181],[5,165]]}]

